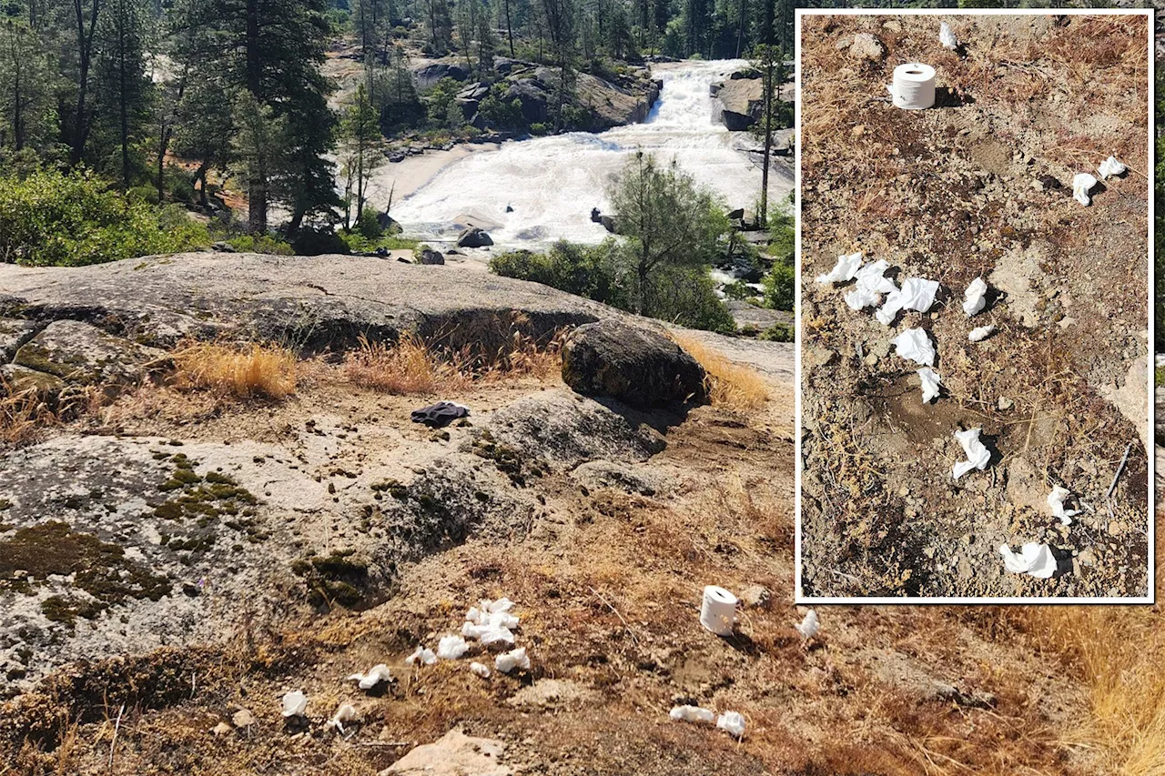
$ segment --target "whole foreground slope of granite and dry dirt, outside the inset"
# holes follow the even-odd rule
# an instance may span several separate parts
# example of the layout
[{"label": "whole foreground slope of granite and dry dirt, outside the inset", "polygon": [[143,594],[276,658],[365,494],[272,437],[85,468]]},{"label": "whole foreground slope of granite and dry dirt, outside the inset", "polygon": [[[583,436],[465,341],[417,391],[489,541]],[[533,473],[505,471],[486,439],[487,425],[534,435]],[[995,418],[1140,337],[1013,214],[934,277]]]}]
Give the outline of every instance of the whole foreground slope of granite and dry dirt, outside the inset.
[{"label": "whole foreground slope of granite and dry dirt, outside the inset", "polygon": [[[1009,618],[795,629],[789,345],[344,256],[0,267],[0,316],[6,362],[90,400],[0,446],[0,770],[1106,773],[1061,743],[1083,686]],[[410,332],[514,355],[355,379],[360,336]],[[184,386],[190,336],[291,346],[294,393]],[[528,338],[562,367],[518,368]],[[438,398],[468,416],[410,421]],[[708,584],[741,599],[730,636],[699,626]],[[493,648],[407,659],[503,597]],[[689,704],[743,738],[669,718]]]}]

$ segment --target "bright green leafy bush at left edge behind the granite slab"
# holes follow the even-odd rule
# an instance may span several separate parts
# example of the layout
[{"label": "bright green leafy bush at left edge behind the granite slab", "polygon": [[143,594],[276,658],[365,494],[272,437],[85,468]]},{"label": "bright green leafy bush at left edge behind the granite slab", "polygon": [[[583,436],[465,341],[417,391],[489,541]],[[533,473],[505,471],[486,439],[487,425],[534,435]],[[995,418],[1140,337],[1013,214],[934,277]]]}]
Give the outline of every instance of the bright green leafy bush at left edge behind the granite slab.
[{"label": "bright green leafy bush at left edge behind the granite slab", "polygon": [[181,209],[122,197],[85,170],[0,177],[3,261],[77,267],[209,244],[206,227]]}]

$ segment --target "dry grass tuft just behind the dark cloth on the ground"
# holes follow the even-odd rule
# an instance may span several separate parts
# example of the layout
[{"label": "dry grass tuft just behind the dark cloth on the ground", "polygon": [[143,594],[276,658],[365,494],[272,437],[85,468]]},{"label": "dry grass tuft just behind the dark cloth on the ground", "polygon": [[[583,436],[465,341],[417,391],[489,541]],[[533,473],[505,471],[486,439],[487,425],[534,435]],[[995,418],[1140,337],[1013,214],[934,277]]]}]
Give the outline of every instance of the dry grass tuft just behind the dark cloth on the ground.
[{"label": "dry grass tuft just behind the dark cloth on the ground", "polygon": [[469,382],[460,360],[439,359],[412,334],[391,345],[361,337],[360,347],[344,362],[344,373],[358,386],[397,395],[457,390]]}]

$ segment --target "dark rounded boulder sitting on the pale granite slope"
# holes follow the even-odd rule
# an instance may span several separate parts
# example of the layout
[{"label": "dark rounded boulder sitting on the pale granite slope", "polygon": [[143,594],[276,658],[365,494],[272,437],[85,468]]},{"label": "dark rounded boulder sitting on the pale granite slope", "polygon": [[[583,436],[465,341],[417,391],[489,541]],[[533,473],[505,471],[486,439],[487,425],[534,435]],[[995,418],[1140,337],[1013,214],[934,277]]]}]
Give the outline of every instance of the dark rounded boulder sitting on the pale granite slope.
[{"label": "dark rounded boulder sitting on the pale granite slope", "polygon": [[609,396],[635,407],[707,397],[704,367],[679,345],[614,320],[571,333],[563,347],[563,381],[586,396]]}]

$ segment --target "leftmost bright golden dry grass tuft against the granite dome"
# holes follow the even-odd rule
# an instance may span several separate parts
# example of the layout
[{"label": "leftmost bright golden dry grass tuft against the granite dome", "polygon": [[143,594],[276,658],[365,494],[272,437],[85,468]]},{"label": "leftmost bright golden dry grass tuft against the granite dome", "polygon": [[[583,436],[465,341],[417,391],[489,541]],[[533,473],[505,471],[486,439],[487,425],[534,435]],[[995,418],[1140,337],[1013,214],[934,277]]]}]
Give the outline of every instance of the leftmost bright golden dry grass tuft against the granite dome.
[{"label": "leftmost bright golden dry grass tuft against the granite dome", "polygon": [[277,345],[192,343],[174,352],[175,383],[233,398],[284,398],[295,393],[297,359]]}]

